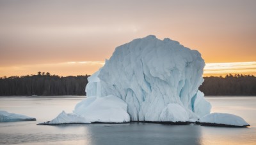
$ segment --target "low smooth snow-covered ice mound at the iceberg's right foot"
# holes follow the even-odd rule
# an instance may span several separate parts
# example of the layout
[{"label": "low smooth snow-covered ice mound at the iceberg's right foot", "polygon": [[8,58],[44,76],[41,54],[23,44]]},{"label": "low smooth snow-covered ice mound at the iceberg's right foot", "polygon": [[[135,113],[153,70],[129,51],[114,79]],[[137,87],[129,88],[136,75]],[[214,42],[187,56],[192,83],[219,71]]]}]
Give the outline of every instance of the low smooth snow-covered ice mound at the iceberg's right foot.
[{"label": "low smooth snow-covered ice mound at the iceberg's right foot", "polygon": [[243,118],[228,113],[211,113],[198,120],[200,123],[211,123],[209,125],[232,125],[237,127],[250,126]]}]

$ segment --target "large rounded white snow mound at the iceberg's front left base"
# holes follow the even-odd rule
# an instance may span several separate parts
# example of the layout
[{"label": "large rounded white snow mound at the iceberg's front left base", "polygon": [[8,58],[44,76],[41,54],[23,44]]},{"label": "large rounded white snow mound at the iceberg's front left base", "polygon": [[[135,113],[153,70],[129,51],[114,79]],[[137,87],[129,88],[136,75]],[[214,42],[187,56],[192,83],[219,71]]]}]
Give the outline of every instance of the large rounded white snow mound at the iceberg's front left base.
[{"label": "large rounded white snow mound at the iceberg's front left base", "polygon": [[74,113],[84,116],[91,122],[123,123],[130,121],[127,104],[113,95],[88,97],[76,105]]}]

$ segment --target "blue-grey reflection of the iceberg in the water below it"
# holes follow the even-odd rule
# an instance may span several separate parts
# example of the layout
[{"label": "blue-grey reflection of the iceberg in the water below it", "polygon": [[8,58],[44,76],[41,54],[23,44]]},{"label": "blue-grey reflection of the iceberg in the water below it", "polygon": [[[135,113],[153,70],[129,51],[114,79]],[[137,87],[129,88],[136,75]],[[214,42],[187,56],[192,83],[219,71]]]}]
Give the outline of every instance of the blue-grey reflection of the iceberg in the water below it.
[{"label": "blue-grey reflection of the iceberg in the water below it", "polygon": [[91,143],[98,144],[201,144],[198,125],[127,123],[93,124],[88,127]]}]

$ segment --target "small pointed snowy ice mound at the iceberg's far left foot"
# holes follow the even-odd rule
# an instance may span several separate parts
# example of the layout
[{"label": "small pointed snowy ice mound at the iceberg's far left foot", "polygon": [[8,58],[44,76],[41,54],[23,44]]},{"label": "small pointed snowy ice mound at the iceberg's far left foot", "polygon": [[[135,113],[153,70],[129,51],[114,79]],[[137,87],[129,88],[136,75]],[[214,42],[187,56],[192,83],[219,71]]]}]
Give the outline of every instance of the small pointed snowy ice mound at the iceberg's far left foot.
[{"label": "small pointed snowy ice mound at the iceberg's far left foot", "polygon": [[65,123],[91,123],[90,121],[86,121],[85,118],[72,113],[65,113],[62,111],[56,118],[51,121],[47,121],[44,123],[40,123],[42,125],[54,125],[54,124],[65,124]]}]

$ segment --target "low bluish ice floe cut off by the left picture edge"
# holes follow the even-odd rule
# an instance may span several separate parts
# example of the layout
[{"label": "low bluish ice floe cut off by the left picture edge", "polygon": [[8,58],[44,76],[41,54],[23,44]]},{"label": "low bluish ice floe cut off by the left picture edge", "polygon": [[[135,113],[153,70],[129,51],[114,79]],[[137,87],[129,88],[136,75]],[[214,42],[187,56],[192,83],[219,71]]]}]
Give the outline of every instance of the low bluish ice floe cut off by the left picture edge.
[{"label": "low bluish ice floe cut off by the left picture edge", "polygon": [[22,114],[8,113],[7,111],[0,111],[0,122],[13,121],[35,121],[36,118],[25,116]]}]

